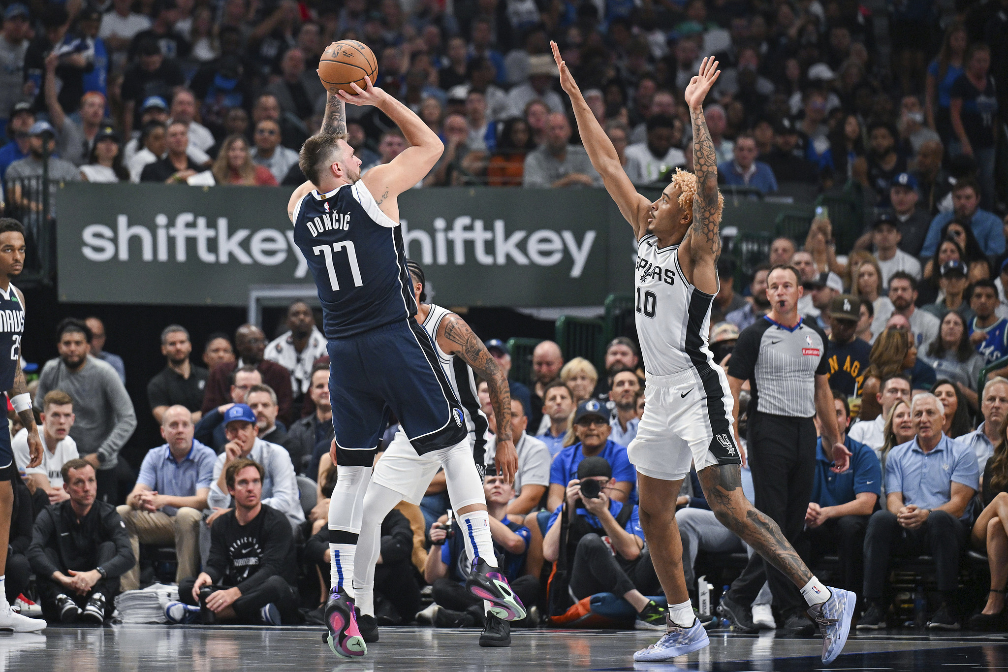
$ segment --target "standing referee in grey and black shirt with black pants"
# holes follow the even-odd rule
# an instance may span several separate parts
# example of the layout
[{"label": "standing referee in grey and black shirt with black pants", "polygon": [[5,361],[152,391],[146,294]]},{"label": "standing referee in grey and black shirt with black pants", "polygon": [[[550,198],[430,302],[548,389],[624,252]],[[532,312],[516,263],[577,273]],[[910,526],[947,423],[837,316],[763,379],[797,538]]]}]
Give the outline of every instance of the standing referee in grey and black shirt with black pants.
[{"label": "standing referee in grey and black shirt with black pants", "polygon": [[[850,452],[839,442],[837,415],[827,374],[827,337],[798,316],[802,288],[793,266],[778,264],[767,276],[770,312],[739,335],[728,365],[728,384],[735,397],[733,417],[738,440],[739,393],[749,381],[751,400],[747,449],[751,459],[754,502],[772,518],[792,544],[804,525],[815,476],[815,424],[823,445],[835,446],[836,471],[848,466]],[[741,442],[739,443],[741,445]],[[773,601],[785,630],[811,630],[805,600],[794,584],[763,558],[752,554],[742,575],[722,597],[722,613],[739,630],[754,632],[751,604],[769,580]]]}]

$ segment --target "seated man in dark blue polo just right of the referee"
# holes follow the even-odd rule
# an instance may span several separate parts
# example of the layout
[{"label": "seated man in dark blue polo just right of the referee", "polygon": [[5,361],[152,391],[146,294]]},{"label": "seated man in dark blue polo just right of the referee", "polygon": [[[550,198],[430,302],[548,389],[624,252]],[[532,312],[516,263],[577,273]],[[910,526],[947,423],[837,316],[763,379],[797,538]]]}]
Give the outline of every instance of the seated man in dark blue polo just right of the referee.
[{"label": "seated man in dark blue polo just right of the referee", "polygon": [[837,553],[840,575],[834,578],[834,585],[860,593],[864,580],[865,530],[879,499],[882,471],[871,446],[847,435],[851,421],[847,395],[834,390],[833,404],[837,408],[837,427],[851,453],[851,467],[841,474],[834,473],[823,450],[822,437],[816,441],[815,479],[805,512],[805,529],[795,548],[812,566],[826,553]]}]

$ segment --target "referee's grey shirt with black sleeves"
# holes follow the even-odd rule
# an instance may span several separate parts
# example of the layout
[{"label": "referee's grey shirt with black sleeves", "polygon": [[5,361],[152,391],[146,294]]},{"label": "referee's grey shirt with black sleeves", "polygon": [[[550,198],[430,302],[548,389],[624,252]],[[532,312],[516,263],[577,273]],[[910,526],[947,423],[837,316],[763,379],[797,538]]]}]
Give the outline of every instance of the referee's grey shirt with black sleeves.
[{"label": "referee's grey shirt with black sleeves", "polygon": [[828,373],[826,333],[800,318],[794,326],[757,319],[739,334],[728,363],[729,376],[749,381],[750,412],[796,418],[815,415],[815,376]]}]

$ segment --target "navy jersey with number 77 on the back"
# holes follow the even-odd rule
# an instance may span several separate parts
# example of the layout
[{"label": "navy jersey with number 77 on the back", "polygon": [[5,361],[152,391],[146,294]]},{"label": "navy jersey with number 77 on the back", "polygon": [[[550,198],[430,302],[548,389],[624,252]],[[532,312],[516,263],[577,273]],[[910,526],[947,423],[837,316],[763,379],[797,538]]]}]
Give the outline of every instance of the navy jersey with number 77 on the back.
[{"label": "navy jersey with number 77 on the back", "polygon": [[294,242],[311,269],[329,340],[348,339],[416,314],[402,230],[358,180],[312,189],[294,210]]}]

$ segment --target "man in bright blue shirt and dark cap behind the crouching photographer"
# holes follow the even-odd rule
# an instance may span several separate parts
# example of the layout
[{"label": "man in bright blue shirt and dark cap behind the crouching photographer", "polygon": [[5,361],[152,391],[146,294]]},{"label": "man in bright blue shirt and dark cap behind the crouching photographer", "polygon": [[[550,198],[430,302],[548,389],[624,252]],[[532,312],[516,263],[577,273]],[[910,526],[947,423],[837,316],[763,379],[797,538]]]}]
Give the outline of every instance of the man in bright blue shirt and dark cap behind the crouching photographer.
[{"label": "man in bright blue shirt and dark cap behind the crouching photographer", "polygon": [[577,478],[578,464],[586,457],[604,457],[612,468],[610,497],[617,502],[633,501],[637,474],[627,458],[627,449],[609,440],[609,411],[594,399],[582,402],[574,415],[574,433],[578,442],[560,450],[549,467],[549,495],[546,509],[555,511],[563,501],[566,485]]}]

